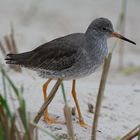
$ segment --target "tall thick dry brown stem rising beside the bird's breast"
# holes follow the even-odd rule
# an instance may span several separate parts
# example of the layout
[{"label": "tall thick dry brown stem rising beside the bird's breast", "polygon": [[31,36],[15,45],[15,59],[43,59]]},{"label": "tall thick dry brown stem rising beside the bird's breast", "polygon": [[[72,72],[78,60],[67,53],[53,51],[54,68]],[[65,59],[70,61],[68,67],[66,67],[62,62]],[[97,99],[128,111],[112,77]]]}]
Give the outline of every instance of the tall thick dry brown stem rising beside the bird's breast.
[{"label": "tall thick dry brown stem rising beside the bird's breast", "polygon": [[92,135],[91,135],[91,140],[96,140],[96,132],[97,132],[97,125],[98,125],[98,120],[99,120],[99,114],[101,110],[101,105],[102,105],[102,100],[104,96],[104,89],[106,85],[106,80],[107,80],[107,75],[110,67],[110,62],[112,58],[112,53],[109,53],[108,57],[104,61],[104,67],[103,67],[103,72],[101,76],[101,81],[100,81],[100,86],[99,86],[99,91],[98,91],[98,96],[97,96],[97,101],[96,101],[96,107],[95,107],[95,115],[93,119],[93,125],[92,125]]}]

